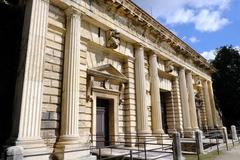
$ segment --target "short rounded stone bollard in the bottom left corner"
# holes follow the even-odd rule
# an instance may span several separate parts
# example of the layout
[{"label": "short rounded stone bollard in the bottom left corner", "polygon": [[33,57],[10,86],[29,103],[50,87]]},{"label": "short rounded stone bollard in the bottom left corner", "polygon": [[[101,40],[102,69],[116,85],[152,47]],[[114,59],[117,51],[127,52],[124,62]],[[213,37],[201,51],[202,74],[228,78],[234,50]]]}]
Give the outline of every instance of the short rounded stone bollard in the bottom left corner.
[{"label": "short rounded stone bollard in the bottom left corner", "polygon": [[20,146],[7,148],[6,160],[23,160],[23,148]]}]

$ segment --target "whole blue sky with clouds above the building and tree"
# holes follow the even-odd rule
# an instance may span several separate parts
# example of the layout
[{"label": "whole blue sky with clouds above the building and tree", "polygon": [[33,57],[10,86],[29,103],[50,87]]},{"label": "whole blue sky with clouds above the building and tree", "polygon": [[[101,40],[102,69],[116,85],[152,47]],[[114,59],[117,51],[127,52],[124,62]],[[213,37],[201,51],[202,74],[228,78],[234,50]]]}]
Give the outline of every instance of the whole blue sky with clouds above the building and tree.
[{"label": "whole blue sky with clouds above the building and tree", "polygon": [[206,59],[240,46],[240,0],[133,0]]}]

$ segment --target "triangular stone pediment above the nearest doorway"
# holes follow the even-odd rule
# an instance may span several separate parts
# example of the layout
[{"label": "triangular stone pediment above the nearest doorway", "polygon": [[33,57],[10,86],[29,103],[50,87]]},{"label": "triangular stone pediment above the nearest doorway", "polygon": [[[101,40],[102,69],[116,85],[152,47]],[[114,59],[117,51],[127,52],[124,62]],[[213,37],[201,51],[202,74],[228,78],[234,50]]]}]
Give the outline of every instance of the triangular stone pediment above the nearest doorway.
[{"label": "triangular stone pediment above the nearest doorway", "polygon": [[104,77],[108,79],[115,79],[119,81],[127,82],[127,77],[119,72],[114,66],[111,64],[105,64],[102,66],[94,67],[88,69],[88,74],[97,76],[97,77]]}]

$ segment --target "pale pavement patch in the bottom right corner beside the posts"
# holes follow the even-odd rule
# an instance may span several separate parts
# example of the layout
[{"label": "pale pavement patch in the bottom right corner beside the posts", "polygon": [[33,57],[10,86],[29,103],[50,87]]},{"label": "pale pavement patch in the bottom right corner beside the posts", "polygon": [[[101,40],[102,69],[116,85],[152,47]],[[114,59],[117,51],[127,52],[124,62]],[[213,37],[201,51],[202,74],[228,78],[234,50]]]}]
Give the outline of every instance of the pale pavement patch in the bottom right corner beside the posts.
[{"label": "pale pavement patch in the bottom right corner beside the posts", "polygon": [[240,160],[240,145],[231,148],[230,151],[223,151],[214,160]]}]

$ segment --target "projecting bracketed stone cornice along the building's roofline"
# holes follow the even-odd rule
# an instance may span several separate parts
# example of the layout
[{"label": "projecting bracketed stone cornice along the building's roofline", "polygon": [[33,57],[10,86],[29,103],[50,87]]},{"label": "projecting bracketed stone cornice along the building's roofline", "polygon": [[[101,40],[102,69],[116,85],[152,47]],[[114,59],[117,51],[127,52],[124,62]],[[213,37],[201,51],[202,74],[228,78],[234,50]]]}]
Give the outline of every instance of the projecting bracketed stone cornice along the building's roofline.
[{"label": "projecting bracketed stone cornice along the building's roofline", "polygon": [[179,39],[131,0],[105,0],[105,2],[117,7],[118,10],[122,9],[129,18],[134,19],[142,27],[147,27],[148,29],[144,32],[151,32],[152,34],[157,35],[156,41],[167,42],[177,53],[193,59],[196,65],[209,70],[210,73],[215,71],[215,69],[204,57],[202,57],[188,44]]}]

